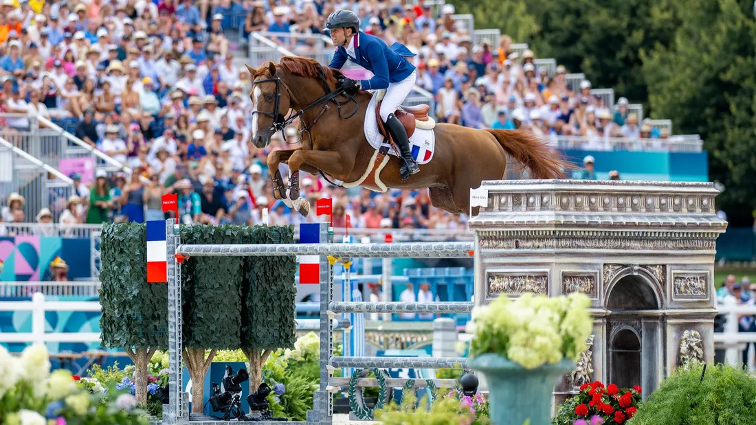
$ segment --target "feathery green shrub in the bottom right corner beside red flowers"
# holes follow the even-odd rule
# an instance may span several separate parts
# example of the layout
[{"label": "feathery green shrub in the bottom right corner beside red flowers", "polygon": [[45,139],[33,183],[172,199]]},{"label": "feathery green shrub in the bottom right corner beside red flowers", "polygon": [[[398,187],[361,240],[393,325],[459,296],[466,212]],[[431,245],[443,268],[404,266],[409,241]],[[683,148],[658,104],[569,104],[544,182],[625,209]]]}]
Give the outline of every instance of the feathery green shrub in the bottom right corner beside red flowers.
[{"label": "feathery green shrub in the bottom right corner beside red flowers", "polygon": [[726,365],[677,369],[654,391],[631,425],[752,425],[756,378]]}]

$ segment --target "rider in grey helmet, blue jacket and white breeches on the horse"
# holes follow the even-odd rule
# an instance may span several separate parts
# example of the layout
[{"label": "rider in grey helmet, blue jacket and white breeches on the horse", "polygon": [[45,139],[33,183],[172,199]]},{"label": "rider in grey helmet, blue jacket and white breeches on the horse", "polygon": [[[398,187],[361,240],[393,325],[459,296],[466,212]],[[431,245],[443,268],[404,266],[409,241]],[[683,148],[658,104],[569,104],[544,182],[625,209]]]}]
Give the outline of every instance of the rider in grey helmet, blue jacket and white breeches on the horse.
[{"label": "rider in grey helmet, blue jacket and white breeches on the horse", "polygon": [[330,30],[331,40],[336,46],[336,54],[333,55],[328,66],[341,69],[346,60],[351,60],[373,72],[373,78],[369,80],[342,79],[340,87],[347,92],[355,92],[358,89],[386,89],[386,96],[383,97],[379,114],[401,151],[404,165],[401,166],[399,172],[404,180],[419,172],[420,167],[412,157],[407,131],[404,130],[404,125],[401,125],[394,112],[415,85],[417,79],[415,66],[405,58],[413,57],[414,54],[399,43],[394,43],[389,48],[380,38],[359,31],[359,27],[360,20],[352,11],[342,9],[330,14],[325,29]]}]

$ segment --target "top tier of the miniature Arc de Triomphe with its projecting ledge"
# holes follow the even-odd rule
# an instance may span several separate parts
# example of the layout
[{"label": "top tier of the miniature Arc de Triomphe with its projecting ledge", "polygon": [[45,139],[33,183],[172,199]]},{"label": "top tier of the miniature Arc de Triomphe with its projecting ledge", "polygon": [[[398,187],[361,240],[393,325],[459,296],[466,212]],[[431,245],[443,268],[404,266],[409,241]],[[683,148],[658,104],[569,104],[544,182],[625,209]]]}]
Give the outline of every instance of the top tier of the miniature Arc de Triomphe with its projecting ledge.
[{"label": "top tier of the miniature Arc de Triomphe with its projecting ledge", "polygon": [[708,229],[721,233],[712,183],[587,180],[485,181],[488,205],[471,229],[596,226]]}]

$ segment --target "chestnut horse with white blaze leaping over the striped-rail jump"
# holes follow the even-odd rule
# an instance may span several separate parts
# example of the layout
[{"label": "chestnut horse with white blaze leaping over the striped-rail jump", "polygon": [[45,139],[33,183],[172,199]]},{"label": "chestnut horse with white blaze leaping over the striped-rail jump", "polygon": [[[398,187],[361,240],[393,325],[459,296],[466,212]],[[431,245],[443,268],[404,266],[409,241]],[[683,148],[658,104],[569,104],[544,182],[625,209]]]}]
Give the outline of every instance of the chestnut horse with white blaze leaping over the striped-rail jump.
[{"label": "chestnut horse with white blaze leaping over the striped-rail jump", "polygon": [[[309,203],[299,197],[299,170],[310,174],[322,172],[343,182],[355,182],[373,167],[373,149],[364,136],[367,103],[372,94],[360,91],[354,97],[341,93],[324,100],[336,91],[341,72],[322,67],[317,61],[302,57],[283,57],[253,69],[252,142],[258,148],[271,143],[276,131],[290,124],[283,115],[299,112],[302,147],[276,150],[268,155],[268,167],[274,184],[274,197],[283,199],[302,215]],[[399,175],[399,159],[386,163],[380,179],[396,189],[429,188],[432,205],[453,214],[469,213],[470,189],[482,180],[500,180],[511,156],[531,177],[562,177],[568,168],[557,152],[527,130],[479,130],[460,125],[435,125],[435,153],[432,160],[420,165],[420,172],[407,180]],[[308,136],[305,136],[308,133]],[[283,187],[278,166],[290,168],[289,190]],[[477,214],[477,208],[473,210]]]}]

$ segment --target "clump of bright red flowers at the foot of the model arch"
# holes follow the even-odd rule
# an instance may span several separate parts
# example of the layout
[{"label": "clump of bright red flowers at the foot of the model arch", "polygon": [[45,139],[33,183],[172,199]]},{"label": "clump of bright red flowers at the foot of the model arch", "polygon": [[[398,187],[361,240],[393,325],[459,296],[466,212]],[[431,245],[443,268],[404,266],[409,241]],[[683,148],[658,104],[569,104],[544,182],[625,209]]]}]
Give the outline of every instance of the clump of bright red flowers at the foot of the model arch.
[{"label": "clump of bright red flowers at the foot of the model arch", "polygon": [[604,420],[604,425],[625,423],[638,410],[640,401],[641,388],[638,386],[619,388],[614,383],[606,387],[600,381],[586,383],[580,387],[577,396],[565,402],[555,419],[576,420],[598,416]]}]

